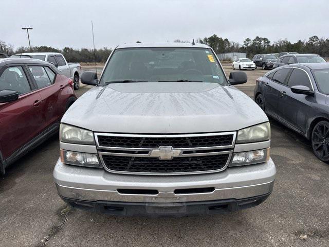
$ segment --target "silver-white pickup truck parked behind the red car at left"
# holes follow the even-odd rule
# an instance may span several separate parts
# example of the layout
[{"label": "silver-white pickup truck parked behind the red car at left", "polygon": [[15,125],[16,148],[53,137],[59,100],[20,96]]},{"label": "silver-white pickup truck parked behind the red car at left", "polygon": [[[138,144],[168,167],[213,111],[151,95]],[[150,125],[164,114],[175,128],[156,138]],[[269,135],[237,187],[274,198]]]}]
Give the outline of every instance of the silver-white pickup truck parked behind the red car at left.
[{"label": "silver-white pickup truck parked behind the red car at left", "polygon": [[78,90],[80,87],[81,66],[79,63],[68,63],[65,57],[58,52],[30,52],[12,55],[11,58],[35,58],[42,61],[53,63],[61,75],[66,76],[74,81],[74,89]]}]

